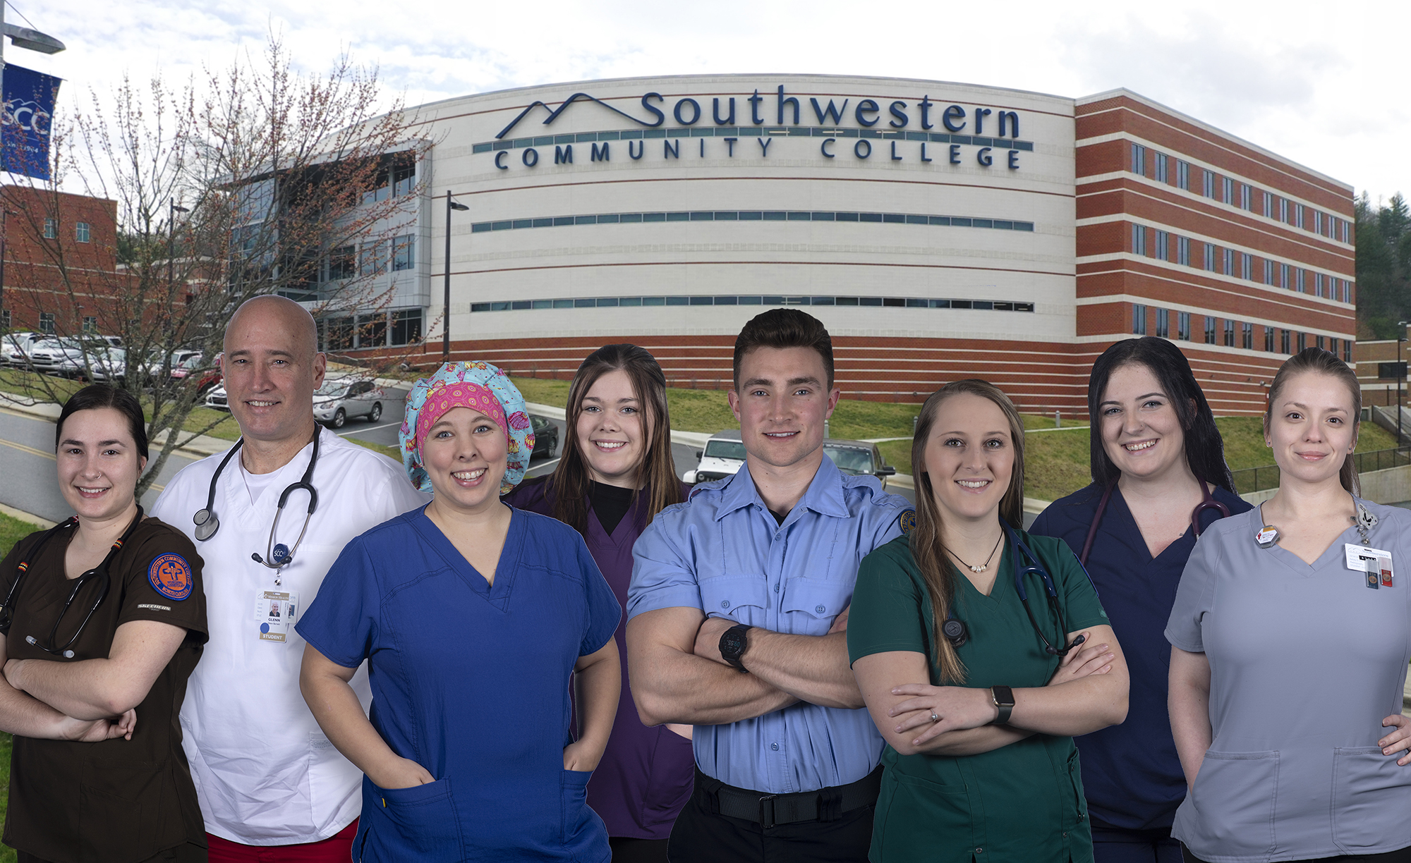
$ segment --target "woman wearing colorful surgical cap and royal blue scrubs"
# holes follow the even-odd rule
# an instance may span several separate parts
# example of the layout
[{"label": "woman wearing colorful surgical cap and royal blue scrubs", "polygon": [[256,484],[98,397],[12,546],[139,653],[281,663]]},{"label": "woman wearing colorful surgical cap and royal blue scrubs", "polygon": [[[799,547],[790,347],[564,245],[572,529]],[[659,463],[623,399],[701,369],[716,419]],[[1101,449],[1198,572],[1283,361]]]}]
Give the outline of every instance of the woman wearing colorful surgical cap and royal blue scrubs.
[{"label": "woman wearing colorful surgical cap and royal blue scrubs", "polygon": [[[354,856],[607,863],[586,785],[621,609],[576,530],[499,502],[533,450],[523,399],[494,365],[446,364],[408,395],[401,440],[432,502],[350,541],[298,623],[303,697],[365,774]],[[349,687],[364,660],[371,716]]]}]

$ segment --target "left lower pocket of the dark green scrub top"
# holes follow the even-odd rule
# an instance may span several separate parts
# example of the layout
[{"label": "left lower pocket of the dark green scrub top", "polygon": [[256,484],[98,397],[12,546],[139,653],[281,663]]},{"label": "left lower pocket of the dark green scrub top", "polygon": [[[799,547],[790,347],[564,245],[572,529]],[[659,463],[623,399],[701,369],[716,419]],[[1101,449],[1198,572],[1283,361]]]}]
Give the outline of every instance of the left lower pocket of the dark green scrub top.
[{"label": "left lower pocket of the dark green scrub top", "polygon": [[985,846],[985,818],[972,804],[962,785],[943,785],[886,770],[868,859],[873,863],[968,863],[975,849]]}]

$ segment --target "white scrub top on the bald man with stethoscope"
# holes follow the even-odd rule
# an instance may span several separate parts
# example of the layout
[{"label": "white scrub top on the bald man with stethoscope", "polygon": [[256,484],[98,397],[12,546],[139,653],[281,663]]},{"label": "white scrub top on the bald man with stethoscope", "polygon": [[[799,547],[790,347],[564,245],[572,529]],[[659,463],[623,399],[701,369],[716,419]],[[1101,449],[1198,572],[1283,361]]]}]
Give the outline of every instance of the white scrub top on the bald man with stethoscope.
[{"label": "white scrub top on the bald man with stethoscope", "polygon": [[[292,626],[286,642],[261,640],[257,594],[296,592],[298,620],[350,539],[430,501],[412,488],[399,464],[320,427],[312,478],[319,508],[277,588],[275,571],[250,556],[267,557],[279,495],[303,477],[312,451],[310,443],[270,474],[255,503],[241,481],[238,457],[233,458],[216,486],[220,529],[206,541],[196,539],[192,516],[206,506],[210,478],[226,453],[182,468],[151,513],[183,530],[206,561],[210,640],[186,684],[182,746],[206,831],[244,845],[319,842],[361,811],[363,773],[329,743],[299,694],[305,642]],[[308,506],[302,489],[289,495],[275,541],[293,547]],[[351,685],[367,709],[365,667]]]}]

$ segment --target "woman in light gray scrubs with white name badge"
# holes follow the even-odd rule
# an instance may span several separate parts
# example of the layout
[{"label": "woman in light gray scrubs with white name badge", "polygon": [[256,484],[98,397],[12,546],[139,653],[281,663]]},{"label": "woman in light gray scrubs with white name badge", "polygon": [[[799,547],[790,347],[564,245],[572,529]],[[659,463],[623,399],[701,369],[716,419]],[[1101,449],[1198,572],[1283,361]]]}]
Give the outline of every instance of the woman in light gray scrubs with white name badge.
[{"label": "woman in light gray scrubs with white name badge", "polygon": [[1291,357],[1264,413],[1278,492],[1211,525],[1181,577],[1165,636],[1188,862],[1411,862],[1411,512],[1356,495],[1360,409],[1345,362]]}]

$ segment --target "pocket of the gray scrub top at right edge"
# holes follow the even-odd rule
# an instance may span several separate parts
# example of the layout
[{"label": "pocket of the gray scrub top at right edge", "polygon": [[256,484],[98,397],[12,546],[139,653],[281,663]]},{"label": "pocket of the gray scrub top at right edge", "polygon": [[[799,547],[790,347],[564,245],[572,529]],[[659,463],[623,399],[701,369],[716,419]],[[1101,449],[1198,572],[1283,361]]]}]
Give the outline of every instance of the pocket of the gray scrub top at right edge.
[{"label": "pocket of the gray scrub top at right edge", "polygon": [[1397,766],[1400,754],[1384,756],[1377,746],[1333,749],[1332,840],[1342,853],[1407,845],[1411,766]]}]

